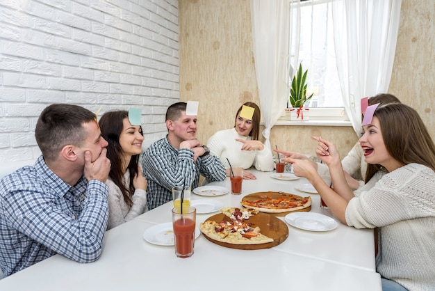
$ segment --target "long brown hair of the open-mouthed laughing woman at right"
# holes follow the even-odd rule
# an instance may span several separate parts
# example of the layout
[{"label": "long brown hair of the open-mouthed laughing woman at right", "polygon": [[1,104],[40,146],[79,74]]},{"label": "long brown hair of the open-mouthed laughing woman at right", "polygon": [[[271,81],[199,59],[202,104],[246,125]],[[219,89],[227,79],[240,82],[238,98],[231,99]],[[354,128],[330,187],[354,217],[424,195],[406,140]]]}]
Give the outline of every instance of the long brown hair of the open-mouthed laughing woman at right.
[{"label": "long brown hair of the open-mouthed laughing woman at right", "polygon": [[[435,145],[417,111],[405,104],[379,105],[374,116],[379,119],[382,138],[388,153],[402,164],[422,164],[435,171]],[[368,164],[366,182],[382,166]]]}]

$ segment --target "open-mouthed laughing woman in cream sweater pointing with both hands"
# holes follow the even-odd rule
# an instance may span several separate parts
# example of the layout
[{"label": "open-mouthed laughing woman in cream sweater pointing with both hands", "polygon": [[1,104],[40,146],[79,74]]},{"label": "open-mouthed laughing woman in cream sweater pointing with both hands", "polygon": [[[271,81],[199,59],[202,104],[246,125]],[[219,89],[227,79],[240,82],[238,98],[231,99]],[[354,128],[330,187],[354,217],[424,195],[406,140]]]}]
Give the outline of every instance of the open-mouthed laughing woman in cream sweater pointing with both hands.
[{"label": "open-mouthed laughing woman in cream sweater pointing with both hands", "polygon": [[334,189],[310,162],[284,159],[293,163],[295,175],[313,184],[340,221],[377,228],[376,266],[384,290],[435,290],[435,145],[411,107],[376,106],[363,120],[359,142],[368,168],[366,184],[357,191],[347,184],[329,141],[313,136]]}]

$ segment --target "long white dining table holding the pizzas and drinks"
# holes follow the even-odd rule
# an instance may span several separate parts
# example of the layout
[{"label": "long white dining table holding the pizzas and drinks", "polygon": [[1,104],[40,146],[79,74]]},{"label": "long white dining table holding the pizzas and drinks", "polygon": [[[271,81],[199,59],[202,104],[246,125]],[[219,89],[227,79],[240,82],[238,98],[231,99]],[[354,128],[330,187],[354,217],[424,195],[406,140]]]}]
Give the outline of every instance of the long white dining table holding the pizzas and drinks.
[{"label": "long white dining table holding the pizzas and drinks", "polygon": [[[290,226],[288,237],[269,249],[240,250],[214,244],[199,235],[191,258],[177,258],[174,246],[151,244],[145,230],[171,221],[172,201],[108,230],[101,258],[81,264],[54,255],[0,280],[0,290],[381,290],[375,271],[373,230],[340,223],[320,208],[318,194],[295,189],[308,183],[277,180],[272,172],[250,169],[256,180],[243,180],[242,194],[232,195],[229,178],[212,182],[229,190],[221,196],[192,193],[192,201],[213,199],[225,207],[242,207],[240,200],[259,191],[284,191],[311,196],[311,211],[338,222],[328,231]],[[197,223],[216,214],[197,214]],[[284,217],[278,217],[285,221]]]}]

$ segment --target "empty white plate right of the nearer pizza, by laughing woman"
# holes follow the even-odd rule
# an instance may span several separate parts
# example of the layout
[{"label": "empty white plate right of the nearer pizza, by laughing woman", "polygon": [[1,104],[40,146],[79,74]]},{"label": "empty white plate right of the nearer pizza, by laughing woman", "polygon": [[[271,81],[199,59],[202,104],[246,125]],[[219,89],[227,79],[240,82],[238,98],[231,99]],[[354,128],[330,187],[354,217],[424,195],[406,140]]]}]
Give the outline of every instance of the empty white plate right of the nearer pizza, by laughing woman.
[{"label": "empty white plate right of the nearer pizza, by laughing woman", "polygon": [[331,217],[314,212],[293,212],[287,214],[284,219],[290,226],[303,230],[328,231],[338,226],[337,221]]}]

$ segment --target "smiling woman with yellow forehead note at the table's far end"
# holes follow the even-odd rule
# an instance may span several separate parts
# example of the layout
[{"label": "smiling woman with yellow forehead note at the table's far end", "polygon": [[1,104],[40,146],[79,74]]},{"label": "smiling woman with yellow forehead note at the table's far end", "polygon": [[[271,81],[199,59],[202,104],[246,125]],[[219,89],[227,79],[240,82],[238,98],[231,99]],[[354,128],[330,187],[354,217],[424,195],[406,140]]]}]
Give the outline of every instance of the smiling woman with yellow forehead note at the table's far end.
[{"label": "smiling woman with yellow forehead note at the table's far end", "polygon": [[[252,119],[240,116],[243,106],[254,109]],[[246,102],[236,113],[234,127],[216,132],[208,139],[207,147],[212,155],[220,158],[227,168],[229,176],[229,162],[231,166],[241,166],[245,169],[255,166],[258,171],[273,171],[274,163],[272,152],[265,148],[260,135],[261,112],[254,102]],[[256,179],[249,171],[243,171],[244,179]]]}]

